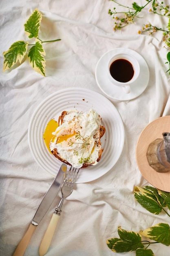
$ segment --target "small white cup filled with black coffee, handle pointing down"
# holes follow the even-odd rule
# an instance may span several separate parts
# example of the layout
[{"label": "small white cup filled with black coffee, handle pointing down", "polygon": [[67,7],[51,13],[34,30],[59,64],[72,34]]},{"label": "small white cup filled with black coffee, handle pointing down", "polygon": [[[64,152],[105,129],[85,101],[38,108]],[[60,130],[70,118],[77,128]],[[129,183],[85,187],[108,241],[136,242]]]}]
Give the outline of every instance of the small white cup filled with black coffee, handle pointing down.
[{"label": "small white cup filled with black coffee, handle pointing down", "polygon": [[115,54],[108,61],[108,77],[110,81],[130,93],[130,85],[135,82],[140,73],[137,59],[129,53]]}]

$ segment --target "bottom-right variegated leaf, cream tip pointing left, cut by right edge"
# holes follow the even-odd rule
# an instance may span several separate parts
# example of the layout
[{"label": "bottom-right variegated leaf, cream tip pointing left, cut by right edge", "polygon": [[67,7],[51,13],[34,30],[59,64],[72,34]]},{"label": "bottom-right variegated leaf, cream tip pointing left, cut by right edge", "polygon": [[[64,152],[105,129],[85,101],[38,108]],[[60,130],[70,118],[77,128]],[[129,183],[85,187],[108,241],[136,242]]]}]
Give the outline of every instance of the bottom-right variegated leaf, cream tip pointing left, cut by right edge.
[{"label": "bottom-right variegated leaf, cream tip pointing left, cut by right edge", "polygon": [[163,245],[170,245],[170,226],[166,223],[159,223],[144,231],[141,231],[143,236],[155,240]]}]

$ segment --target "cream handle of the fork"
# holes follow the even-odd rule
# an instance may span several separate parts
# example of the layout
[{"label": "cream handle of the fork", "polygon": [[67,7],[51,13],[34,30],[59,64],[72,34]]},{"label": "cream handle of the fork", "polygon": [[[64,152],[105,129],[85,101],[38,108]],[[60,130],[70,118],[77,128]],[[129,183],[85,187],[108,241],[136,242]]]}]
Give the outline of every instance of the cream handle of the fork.
[{"label": "cream handle of the fork", "polygon": [[44,237],[42,239],[42,242],[40,244],[40,248],[39,248],[40,256],[43,256],[48,251],[59,218],[60,218],[60,215],[53,213],[49,226],[47,227]]}]

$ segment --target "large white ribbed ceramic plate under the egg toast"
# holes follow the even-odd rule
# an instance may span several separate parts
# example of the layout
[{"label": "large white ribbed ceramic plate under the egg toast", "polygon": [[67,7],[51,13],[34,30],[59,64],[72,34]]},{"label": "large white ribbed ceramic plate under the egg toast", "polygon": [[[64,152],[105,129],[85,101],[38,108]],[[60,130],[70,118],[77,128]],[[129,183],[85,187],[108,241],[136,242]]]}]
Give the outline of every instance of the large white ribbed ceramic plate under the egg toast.
[{"label": "large white ribbed ceramic plate under the egg toast", "polygon": [[68,88],[57,91],[40,103],[29,124],[29,146],[38,165],[55,176],[62,162],[46,148],[43,133],[51,119],[58,121],[64,110],[87,111],[93,108],[102,117],[106,132],[101,139],[104,149],[99,163],[82,168],[77,183],[90,182],[107,173],[119,159],[124,146],[124,125],[115,106],[97,92],[83,88]]}]

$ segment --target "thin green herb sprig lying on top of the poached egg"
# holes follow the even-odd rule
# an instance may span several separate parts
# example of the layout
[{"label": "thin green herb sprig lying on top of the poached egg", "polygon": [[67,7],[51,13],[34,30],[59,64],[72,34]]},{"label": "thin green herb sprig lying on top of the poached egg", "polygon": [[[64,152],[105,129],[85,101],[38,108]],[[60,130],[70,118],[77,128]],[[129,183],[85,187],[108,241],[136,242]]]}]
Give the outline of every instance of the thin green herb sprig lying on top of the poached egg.
[{"label": "thin green herb sprig lying on top of the poached egg", "polygon": [[[72,139],[68,142],[68,145],[70,146],[73,146],[73,144],[81,144],[81,148],[79,148],[79,150],[74,150],[74,154],[75,155],[79,155],[79,151],[83,149],[83,153],[81,155],[81,157],[79,158],[79,163],[80,164],[83,164],[83,163],[87,163],[87,162],[90,162],[90,152],[89,152],[89,148],[88,148],[88,145],[89,144],[89,140],[90,140],[90,137],[83,137],[80,132],[76,132],[76,135],[75,135],[75,139],[79,139],[81,142],[75,142],[75,141],[72,141]],[[84,156],[84,152],[85,150],[88,150],[88,157],[83,157]]]}]

